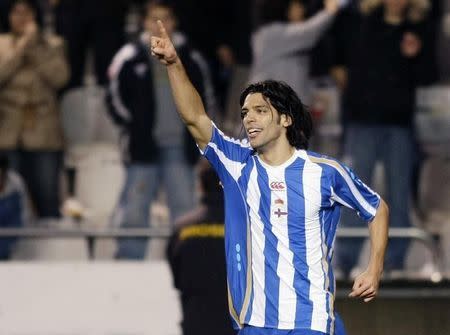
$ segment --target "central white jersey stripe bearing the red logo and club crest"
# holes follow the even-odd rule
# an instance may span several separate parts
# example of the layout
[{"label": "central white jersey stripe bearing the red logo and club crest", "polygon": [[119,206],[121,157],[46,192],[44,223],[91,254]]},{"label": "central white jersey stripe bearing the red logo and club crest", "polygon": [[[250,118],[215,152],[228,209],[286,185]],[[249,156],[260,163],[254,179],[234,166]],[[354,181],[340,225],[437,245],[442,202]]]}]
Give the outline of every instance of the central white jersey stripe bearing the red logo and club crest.
[{"label": "central white jersey stripe bearing the red logo and club crest", "polygon": [[[284,176],[285,169],[266,169],[271,182],[283,182],[286,185]],[[300,178],[300,176],[299,176]],[[275,200],[283,201],[283,204],[276,204]],[[270,222],[272,232],[276,236],[277,251],[279,253],[277,275],[280,278],[278,297],[278,327],[280,329],[293,329],[295,327],[295,314],[297,307],[297,294],[294,288],[294,254],[289,249],[288,216],[277,215],[275,212],[287,212],[287,190],[272,190],[270,205]]]}]

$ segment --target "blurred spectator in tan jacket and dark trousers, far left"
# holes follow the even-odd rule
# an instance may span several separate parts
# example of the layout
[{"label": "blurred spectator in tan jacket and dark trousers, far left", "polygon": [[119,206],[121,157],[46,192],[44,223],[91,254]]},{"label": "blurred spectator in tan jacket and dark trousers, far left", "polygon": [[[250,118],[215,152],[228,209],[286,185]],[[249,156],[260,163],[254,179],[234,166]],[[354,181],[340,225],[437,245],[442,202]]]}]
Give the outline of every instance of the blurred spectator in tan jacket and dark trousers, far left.
[{"label": "blurred spectator in tan jacket and dark trousers, far left", "polygon": [[44,35],[38,8],[15,0],[0,35],[0,151],[9,154],[40,217],[59,215],[63,134],[57,91],[68,80],[63,41]]}]

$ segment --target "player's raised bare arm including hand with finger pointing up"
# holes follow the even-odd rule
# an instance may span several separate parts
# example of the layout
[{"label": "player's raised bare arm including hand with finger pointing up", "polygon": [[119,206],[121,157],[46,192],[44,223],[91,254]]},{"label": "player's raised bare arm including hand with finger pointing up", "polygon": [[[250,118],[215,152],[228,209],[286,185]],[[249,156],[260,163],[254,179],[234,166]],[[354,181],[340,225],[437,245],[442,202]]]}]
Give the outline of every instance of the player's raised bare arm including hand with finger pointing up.
[{"label": "player's raised bare arm including hand with finger pointing up", "polygon": [[158,21],[160,37],[152,36],[151,52],[167,67],[172,94],[181,119],[188,127],[200,149],[204,149],[212,136],[212,123],[197,90],[189,80],[161,21]]}]

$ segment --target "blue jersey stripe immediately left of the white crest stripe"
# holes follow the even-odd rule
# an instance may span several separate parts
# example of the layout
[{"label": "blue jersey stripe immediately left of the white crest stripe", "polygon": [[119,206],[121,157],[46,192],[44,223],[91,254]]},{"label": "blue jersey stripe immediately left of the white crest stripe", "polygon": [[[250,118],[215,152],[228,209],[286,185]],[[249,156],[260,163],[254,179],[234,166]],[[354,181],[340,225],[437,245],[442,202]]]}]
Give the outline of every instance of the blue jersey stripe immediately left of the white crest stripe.
[{"label": "blue jersey stripe immediately left of the white crest stripe", "polygon": [[258,169],[258,187],[261,192],[259,204],[259,216],[264,224],[264,294],[266,296],[265,326],[278,326],[278,301],[280,292],[280,279],[277,275],[278,239],[272,233],[270,222],[270,198],[269,176],[264,167],[256,161]]}]

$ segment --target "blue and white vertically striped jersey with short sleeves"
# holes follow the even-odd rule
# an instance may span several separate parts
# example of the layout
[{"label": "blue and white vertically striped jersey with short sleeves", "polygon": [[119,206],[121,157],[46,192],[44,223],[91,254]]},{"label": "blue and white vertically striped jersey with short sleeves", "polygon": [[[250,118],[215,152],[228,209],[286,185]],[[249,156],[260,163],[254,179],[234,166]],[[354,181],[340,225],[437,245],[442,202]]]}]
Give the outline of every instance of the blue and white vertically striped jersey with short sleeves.
[{"label": "blue and white vertically striped jersey with short sleeves", "polygon": [[366,221],[378,194],[334,159],[296,150],[269,166],[215,126],[205,157],[225,193],[229,307],[236,327],[334,331],[331,269],[340,207]]}]

